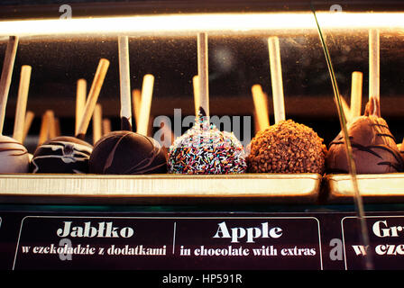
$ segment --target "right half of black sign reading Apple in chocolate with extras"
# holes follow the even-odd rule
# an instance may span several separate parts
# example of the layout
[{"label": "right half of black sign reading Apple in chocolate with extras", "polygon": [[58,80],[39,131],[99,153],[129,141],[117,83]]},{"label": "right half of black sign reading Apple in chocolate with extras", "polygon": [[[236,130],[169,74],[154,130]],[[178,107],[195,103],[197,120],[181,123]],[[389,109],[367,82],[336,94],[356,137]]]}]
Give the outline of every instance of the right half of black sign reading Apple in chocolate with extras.
[{"label": "right half of black sign reading Apple in chocolate with extras", "polygon": [[176,237],[178,261],[197,269],[323,268],[314,217],[179,220]]}]

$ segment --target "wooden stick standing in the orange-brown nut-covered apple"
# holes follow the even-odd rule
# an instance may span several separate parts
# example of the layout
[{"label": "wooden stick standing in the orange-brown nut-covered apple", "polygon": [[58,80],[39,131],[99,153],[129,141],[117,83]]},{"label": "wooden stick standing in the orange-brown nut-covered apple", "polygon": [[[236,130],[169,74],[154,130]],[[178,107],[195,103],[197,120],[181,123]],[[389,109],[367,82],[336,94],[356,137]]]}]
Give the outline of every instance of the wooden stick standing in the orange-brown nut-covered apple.
[{"label": "wooden stick standing in the orange-brown nut-covered apple", "polygon": [[271,85],[275,123],[285,120],[285,100],[283,95],[282,67],[280,63],[280,40],[273,36],[268,38],[270,52]]}]

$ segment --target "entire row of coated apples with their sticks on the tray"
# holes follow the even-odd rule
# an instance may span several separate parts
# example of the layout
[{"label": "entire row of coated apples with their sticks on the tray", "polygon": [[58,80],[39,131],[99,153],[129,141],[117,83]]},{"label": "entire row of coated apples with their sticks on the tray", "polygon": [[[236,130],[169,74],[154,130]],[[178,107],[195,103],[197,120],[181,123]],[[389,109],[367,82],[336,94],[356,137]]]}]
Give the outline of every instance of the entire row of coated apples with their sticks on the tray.
[{"label": "entire row of coated apples with their sticks on the tray", "polygon": [[[17,43],[17,37],[10,37],[0,81],[2,130]],[[0,173],[139,175],[251,172],[322,175],[325,172],[349,172],[342,132],[327,149],[323,139],[318,137],[314,130],[295,121],[285,120],[277,37],[271,37],[268,40],[276,123],[270,126],[267,121],[267,127],[262,125],[263,129],[257,132],[246,148],[247,151],[233,133],[220,131],[209,121],[207,35],[199,33],[197,43],[198,89],[195,101],[198,108],[195,125],[174,140],[168,153],[156,140],[132,131],[128,39],[119,37],[121,130],[107,133],[96,141],[94,147],[84,140],[109,67],[109,61],[102,58],[96,69],[75,137],[59,136],[49,139],[36,148],[30,157],[21,142],[0,135]],[[15,117],[15,125],[20,127],[22,125],[18,125],[18,122],[21,121],[17,119],[23,119],[25,114],[26,104],[20,103],[26,102],[29,85],[27,75],[30,73],[31,69],[22,70],[19,104],[17,104]],[[151,97],[151,94],[149,95]],[[256,98],[257,93],[253,95],[256,107],[262,107]],[[346,116],[349,114],[348,110],[345,111]],[[257,109],[257,116],[265,119],[268,113]],[[386,121],[381,118],[379,97],[370,97],[364,115],[349,120],[348,134],[358,173],[380,174],[403,171],[404,161],[400,156],[399,148]]]}]

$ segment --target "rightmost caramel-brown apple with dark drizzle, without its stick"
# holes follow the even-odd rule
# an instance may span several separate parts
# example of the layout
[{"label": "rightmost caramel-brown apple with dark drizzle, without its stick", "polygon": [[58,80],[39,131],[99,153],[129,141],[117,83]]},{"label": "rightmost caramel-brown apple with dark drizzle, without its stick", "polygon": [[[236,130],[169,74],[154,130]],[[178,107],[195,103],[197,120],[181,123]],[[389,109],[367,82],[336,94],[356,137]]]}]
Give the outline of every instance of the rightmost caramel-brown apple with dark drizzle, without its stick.
[{"label": "rightmost caramel-brown apple with dark drizzle, without its stick", "polygon": [[[380,117],[378,103],[368,103],[364,116],[347,124],[353,159],[358,174],[396,173],[403,170],[394,137]],[[326,159],[328,173],[349,173],[342,132],[330,143]]]}]

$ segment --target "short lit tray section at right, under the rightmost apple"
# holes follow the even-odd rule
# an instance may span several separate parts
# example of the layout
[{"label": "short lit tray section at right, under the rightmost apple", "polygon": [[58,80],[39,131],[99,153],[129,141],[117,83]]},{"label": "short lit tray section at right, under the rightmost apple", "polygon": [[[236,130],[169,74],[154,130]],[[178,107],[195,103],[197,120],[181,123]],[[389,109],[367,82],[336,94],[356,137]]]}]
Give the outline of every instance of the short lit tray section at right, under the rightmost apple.
[{"label": "short lit tray section at right, under the rightmost apple", "polygon": [[[357,175],[363,202],[398,202],[404,200],[404,173]],[[326,201],[353,202],[353,183],[348,174],[326,175]]]}]

